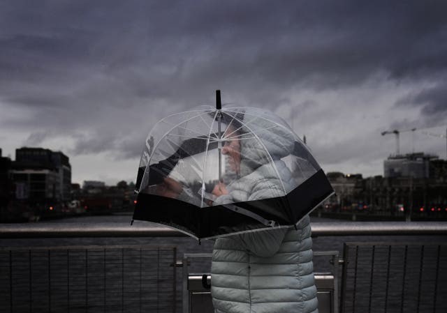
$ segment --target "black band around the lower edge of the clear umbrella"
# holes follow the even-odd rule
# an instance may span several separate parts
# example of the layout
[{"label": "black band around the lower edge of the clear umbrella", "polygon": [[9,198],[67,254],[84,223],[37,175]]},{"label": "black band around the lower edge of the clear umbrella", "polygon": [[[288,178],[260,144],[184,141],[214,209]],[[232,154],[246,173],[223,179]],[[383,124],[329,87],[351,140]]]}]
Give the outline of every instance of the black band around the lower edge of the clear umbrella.
[{"label": "black band around the lower edge of the clear umbrella", "polygon": [[[260,215],[266,220],[274,220],[276,224],[293,225],[332,193],[332,186],[320,169],[284,197],[246,201],[234,205]],[[178,199],[145,193],[138,194],[133,219],[166,224],[198,238],[266,227],[258,220],[224,206],[199,208]]]}]

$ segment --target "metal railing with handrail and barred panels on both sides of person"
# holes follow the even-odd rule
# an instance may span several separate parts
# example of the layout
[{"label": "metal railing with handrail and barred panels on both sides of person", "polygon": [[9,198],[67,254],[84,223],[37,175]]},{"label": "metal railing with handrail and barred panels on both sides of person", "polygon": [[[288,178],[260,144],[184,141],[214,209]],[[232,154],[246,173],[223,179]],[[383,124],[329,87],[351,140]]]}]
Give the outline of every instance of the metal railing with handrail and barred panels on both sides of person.
[{"label": "metal railing with handrail and barred panels on both sides of person", "polygon": [[[346,239],[343,258],[332,260],[332,265],[342,264],[342,275],[336,269],[330,273],[335,278],[332,291],[334,302],[330,312],[337,312],[338,309],[341,312],[447,312],[447,297],[443,296],[447,293],[447,241],[441,240],[435,244],[427,241],[404,243],[398,237],[429,236],[439,240],[441,236],[447,239],[447,222],[319,222],[312,223],[312,236],[371,237],[363,243],[349,243],[353,239]],[[401,242],[374,242],[374,238],[381,236],[398,238]],[[144,261],[135,263],[138,259],[135,255],[145,245],[121,248],[110,245],[5,246],[5,243],[20,238],[96,237],[165,237],[165,241],[170,242],[170,237],[185,235],[168,227],[141,224],[0,224],[0,312],[50,312],[53,309],[57,312],[57,305],[70,312],[144,312],[147,311],[146,305],[153,305],[156,299],[161,299],[157,298],[161,293],[166,296],[163,301],[166,300],[172,307],[175,294],[179,294],[182,288],[178,282],[177,290],[175,287],[177,278],[173,265],[179,265],[176,255],[179,250],[175,252],[175,247],[172,247],[173,252],[159,254],[156,262],[145,264]],[[115,254],[110,252],[110,268],[106,265],[109,261],[101,261],[101,256],[108,258],[108,252],[104,252],[108,249],[117,249],[113,252]],[[126,259],[128,252],[133,257]],[[315,255],[318,257],[318,252]],[[117,264],[112,266],[115,261]],[[104,267],[105,270],[101,269]],[[142,271],[139,272],[138,268]],[[167,281],[173,280],[173,285],[169,288],[164,284],[154,285],[155,289],[149,292],[149,289],[146,290],[149,285],[160,282],[154,279],[154,275],[159,275],[155,272],[161,273],[157,272],[160,268],[172,273]],[[127,269],[133,272],[130,274]],[[129,277],[133,279],[127,280]],[[102,284],[104,278],[105,284]],[[141,282],[135,283],[135,280]],[[184,277],[182,282],[185,283]],[[338,290],[341,291],[339,295]],[[156,294],[158,296],[154,296]],[[173,298],[168,300],[170,295]],[[114,305],[107,306],[114,301]],[[176,309],[173,305],[172,308],[166,306],[157,310],[175,312]]]}]

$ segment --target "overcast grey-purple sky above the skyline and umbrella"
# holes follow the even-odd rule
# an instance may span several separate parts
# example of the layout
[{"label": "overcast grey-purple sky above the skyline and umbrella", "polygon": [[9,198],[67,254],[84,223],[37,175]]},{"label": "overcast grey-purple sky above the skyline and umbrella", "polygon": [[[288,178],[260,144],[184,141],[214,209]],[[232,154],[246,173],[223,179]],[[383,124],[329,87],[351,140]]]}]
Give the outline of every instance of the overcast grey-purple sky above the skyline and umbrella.
[{"label": "overcast grey-purple sky above the skyline and umbrella", "polygon": [[[135,181],[163,116],[264,107],[325,171],[446,158],[447,1],[0,0],[0,148],[70,157],[74,183]],[[434,127],[439,126],[439,127]],[[422,128],[424,128],[422,130]]]}]

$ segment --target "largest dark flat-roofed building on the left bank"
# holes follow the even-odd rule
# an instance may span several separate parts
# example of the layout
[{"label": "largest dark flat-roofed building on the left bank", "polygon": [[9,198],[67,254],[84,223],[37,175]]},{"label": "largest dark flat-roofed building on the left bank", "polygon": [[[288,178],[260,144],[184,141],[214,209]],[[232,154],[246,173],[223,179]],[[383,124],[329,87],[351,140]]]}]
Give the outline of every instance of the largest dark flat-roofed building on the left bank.
[{"label": "largest dark flat-roofed building on the left bank", "polygon": [[18,148],[10,173],[15,183],[15,199],[47,203],[68,201],[71,197],[71,165],[59,151]]}]

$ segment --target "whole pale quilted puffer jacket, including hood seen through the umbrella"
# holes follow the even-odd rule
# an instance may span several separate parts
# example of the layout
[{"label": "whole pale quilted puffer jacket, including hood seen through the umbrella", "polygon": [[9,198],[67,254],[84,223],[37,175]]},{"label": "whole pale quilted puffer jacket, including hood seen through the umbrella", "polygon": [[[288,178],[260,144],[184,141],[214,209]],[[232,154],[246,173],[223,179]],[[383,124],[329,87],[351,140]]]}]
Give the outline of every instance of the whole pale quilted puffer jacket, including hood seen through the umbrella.
[{"label": "whole pale quilted puffer jacket, including hood seen through the umbrella", "polygon": [[[214,204],[281,197],[293,189],[291,173],[280,160],[294,139],[262,120],[263,142],[241,141],[242,177]],[[271,159],[265,158],[265,148]],[[278,175],[279,174],[279,175]],[[279,178],[279,177],[280,178]],[[214,243],[211,293],[217,313],[316,313],[309,217],[298,230],[272,229],[223,237]]]}]

